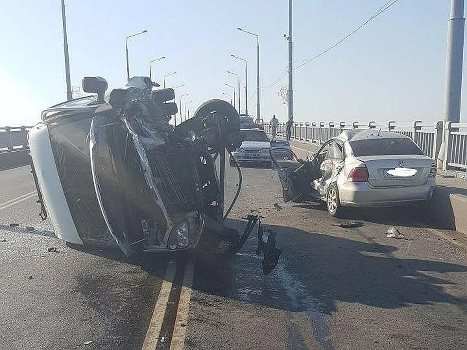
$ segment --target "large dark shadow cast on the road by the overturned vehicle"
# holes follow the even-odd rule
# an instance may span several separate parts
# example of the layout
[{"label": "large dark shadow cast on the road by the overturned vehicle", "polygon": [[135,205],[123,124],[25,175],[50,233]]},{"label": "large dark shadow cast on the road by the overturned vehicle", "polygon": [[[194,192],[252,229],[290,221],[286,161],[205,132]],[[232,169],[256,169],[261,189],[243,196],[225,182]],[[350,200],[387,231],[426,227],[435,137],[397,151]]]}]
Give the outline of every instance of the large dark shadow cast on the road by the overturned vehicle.
[{"label": "large dark shadow cast on the road by the overturned vehicle", "polygon": [[[237,229],[243,225],[239,220],[227,223]],[[336,310],[336,301],[387,309],[409,304],[452,303],[467,311],[465,299],[444,291],[444,286],[451,282],[433,276],[467,272],[465,265],[399,259],[392,255],[396,250],[392,245],[363,243],[289,227],[268,227],[277,232],[277,246],[283,250],[278,266],[269,276],[262,274],[262,257],[254,255],[253,232],[247,244],[233,256],[195,254],[193,288],[207,295],[286,311],[328,314]],[[113,249],[79,249],[141,266],[160,279],[164,279],[167,262],[184,263],[191,254],[140,254],[126,258]]]}]

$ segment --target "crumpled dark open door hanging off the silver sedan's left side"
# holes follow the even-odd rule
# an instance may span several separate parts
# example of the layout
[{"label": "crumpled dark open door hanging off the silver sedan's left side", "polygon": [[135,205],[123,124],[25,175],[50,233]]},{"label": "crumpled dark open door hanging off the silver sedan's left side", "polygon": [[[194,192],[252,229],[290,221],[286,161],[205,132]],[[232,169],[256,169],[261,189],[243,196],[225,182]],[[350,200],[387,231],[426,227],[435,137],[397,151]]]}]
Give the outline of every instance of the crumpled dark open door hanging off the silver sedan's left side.
[{"label": "crumpled dark open door hanging off the silver sedan's left side", "polygon": [[312,181],[319,177],[315,161],[297,158],[295,153],[285,148],[270,151],[272,161],[277,166],[277,174],[282,185],[284,202],[309,196],[312,191]]}]

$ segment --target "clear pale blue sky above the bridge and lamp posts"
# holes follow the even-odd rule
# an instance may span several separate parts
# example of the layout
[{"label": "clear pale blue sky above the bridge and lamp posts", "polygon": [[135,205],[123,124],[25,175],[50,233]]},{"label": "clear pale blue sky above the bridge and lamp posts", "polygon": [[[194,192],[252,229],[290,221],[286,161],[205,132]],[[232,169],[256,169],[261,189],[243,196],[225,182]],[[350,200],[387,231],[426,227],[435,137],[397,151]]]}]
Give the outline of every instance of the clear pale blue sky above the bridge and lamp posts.
[{"label": "clear pale blue sky above the bridge and lamp posts", "polygon": [[[72,85],[100,75],[110,87],[126,81],[125,36],[131,75],[148,75],[149,59],[165,55],[153,76],[185,83],[194,106],[236,86],[249,62],[249,112],[256,112],[255,39],[260,35],[261,86],[287,68],[288,0],[68,0]],[[373,14],[385,0],[294,0],[294,61],[313,56]],[[294,72],[296,120],[431,120],[441,117],[449,0],[400,0],[339,47]],[[66,99],[59,0],[2,1],[0,125],[31,124]],[[466,61],[466,60],[465,60]],[[464,70],[466,71],[466,70]],[[466,74],[464,74],[466,76]],[[243,84],[243,83],[242,83]],[[262,92],[262,114],[287,118],[280,84]],[[466,79],[464,79],[466,87]],[[242,105],[244,101],[242,91]],[[178,99],[177,99],[178,102]],[[463,103],[462,114],[467,112]]]}]

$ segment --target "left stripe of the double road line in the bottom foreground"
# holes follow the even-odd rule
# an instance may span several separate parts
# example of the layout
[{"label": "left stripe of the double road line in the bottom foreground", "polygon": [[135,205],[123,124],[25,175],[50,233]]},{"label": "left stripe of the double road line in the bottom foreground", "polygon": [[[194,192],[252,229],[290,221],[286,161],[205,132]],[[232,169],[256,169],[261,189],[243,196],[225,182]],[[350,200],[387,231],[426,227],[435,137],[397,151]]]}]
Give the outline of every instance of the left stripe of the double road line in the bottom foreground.
[{"label": "left stripe of the double road line in the bottom foreground", "polygon": [[157,298],[156,306],[154,307],[151,321],[149,322],[149,327],[147,328],[142,350],[156,349],[176,270],[177,262],[169,262],[164,281],[162,282],[161,291],[159,292],[159,297]]}]

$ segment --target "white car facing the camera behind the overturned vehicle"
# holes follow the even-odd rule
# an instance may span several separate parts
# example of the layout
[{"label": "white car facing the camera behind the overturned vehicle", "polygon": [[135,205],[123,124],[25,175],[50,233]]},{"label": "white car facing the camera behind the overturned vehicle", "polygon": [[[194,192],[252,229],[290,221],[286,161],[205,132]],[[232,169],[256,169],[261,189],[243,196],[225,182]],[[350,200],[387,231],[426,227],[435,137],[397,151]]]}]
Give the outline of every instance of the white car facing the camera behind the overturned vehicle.
[{"label": "white car facing the camera behind the overturned vehicle", "polygon": [[[232,153],[239,164],[262,163],[265,166],[271,166],[269,154],[271,144],[264,130],[241,128],[240,139],[242,144]],[[234,166],[234,159],[230,159],[231,166]]]}]

